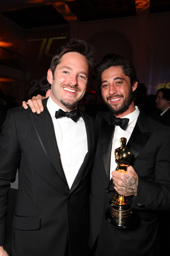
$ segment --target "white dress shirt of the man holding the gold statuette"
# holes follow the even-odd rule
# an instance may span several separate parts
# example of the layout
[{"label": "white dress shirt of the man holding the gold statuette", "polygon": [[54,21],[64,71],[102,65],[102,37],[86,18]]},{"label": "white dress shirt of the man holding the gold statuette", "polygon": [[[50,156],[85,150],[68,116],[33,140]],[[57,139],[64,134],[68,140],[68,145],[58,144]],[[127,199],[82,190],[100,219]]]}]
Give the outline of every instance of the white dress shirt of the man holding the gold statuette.
[{"label": "white dress shirt of the man holding the gold statuette", "polygon": [[111,150],[110,178],[112,178],[111,173],[113,171],[115,171],[116,167],[117,167],[117,163],[115,161],[115,156],[114,156],[114,151],[116,148],[120,147],[120,138],[124,137],[127,139],[127,142],[128,142],[128,140],[130,139],[130,136],[133,132],[133,129],[136,125],[138,116],[139,116],[139,108],[137,106],[135,106],[135,111],[133,111],[132,113],[123,117],[123,118],[129,119],[129,123],[127,125],[126,130],[123,130],[122,128],[120,128],[120,126],[115,125],[114,136],[113,136],[113,140],[112,140],[112,150]]}]

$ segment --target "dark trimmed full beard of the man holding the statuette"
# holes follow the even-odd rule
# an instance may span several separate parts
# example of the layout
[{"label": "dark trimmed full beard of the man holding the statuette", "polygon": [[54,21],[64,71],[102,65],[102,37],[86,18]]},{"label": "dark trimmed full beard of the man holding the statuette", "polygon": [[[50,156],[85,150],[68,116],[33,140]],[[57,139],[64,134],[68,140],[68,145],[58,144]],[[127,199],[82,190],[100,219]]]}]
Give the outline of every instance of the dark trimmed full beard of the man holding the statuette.
[{"label": "dark trimmed full beard of the man holding the statuette", "polygon": [[[108,99],[110,99],[111,97],[108,97]],[[129,94],[127,95],[127,97],[124,99],[123,97],[123,102],[122,104],[117,107],[116,105],[115,106],[112,106],[110,105],[107,101],[104,100],[104,103],[105,105],[108,107],[108,109],[114,114],[114,115],[119,115],[119,114],[122,114],[123,112],[125,112],[130,104],[133,102],[133,90],[132,90],[132,87],[130,86],[130,90],[129,90]]]}]

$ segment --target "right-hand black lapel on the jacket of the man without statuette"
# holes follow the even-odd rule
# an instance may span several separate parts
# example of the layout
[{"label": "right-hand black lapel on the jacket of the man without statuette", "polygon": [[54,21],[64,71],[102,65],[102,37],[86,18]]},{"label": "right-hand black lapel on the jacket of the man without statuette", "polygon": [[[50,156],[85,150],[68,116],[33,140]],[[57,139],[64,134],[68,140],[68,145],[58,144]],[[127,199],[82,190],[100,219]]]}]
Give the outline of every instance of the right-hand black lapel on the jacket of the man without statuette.
[{"label": "right-hand black lapel on the jacket of the man without statuette", "polygon": [[73,192],[73,190],[77,187],[79,184],[80,180],[82,179],[82,176],[85,174],[85,171],[88,169],[88,160],[89,157],[91,156],[91,136],[94,136],[94,122],[93,119],[90,118],[89,116],[85,116],[81,111],[80,115],[82,116],[83,120],[85,121],[85,128],[86,128],[86,133],[87,133],[87,140],[88,140],[88,152],[85,155],[84,161],[82,163],[82,166],[79,169],[79,172],[77,173],[77,176],[71,186],[71,189],[69,191],[69,194]]}]

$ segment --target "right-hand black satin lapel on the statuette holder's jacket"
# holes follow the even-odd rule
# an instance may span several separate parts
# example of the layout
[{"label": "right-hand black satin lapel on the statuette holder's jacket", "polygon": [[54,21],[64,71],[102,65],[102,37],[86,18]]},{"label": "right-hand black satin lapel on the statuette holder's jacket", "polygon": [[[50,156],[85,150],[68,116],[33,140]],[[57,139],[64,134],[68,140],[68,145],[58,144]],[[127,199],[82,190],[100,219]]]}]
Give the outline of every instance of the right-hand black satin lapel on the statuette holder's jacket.
[{"label": "right-hand black satin lapel on the statuette holder's jacket", "polygon": [[147,143],[151,135],[152,132],[150,132],[149,129],[148,117],[140,109],[136,125],[127,143],[127,148],[132,151],[133,160],[138,156],[142,148],[144,148],[144,145]]}]

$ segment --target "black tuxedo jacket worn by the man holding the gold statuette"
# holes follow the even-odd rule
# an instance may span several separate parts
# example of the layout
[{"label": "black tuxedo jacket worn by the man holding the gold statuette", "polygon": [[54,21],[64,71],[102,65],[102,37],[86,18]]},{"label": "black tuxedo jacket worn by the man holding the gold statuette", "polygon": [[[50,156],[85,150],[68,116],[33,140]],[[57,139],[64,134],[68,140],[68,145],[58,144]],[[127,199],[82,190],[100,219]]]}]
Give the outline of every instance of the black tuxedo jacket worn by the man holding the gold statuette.
[{"label": "black tuxedo jacket worn by the man holding the gold statuette", "polygon": [[122,230],[105,220],[115,192],[113,183],[109,186],[114,125],[110,112],[101,112],[96,118],[100,135],[91,177],[90,247],[96,248],[96,256],[156,256],[158,210],[170,209],[170,128],[140,110],[127,143],[133,153],[131,165],[139,175],[137,196],[127,199],[140,220],[136,227]]}]

